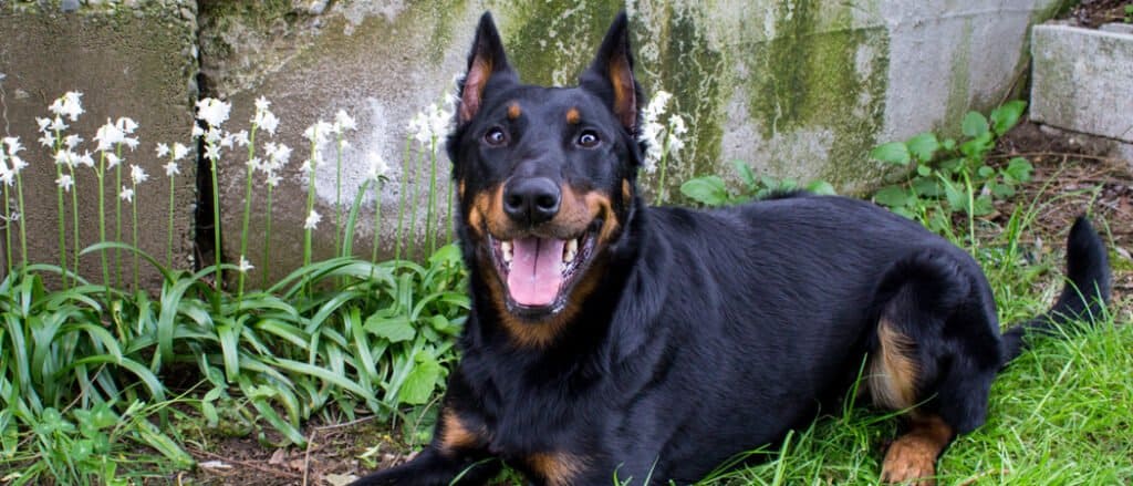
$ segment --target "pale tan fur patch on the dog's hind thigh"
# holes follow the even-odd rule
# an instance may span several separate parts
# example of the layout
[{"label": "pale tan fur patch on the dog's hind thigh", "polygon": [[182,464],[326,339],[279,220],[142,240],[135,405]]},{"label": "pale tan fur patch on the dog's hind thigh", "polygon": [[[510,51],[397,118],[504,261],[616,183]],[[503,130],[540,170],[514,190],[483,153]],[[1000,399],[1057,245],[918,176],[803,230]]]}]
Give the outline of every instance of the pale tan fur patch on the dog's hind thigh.
[{"label": "pale tan fur patch on the dog's hind thigh", "polygon": [[877,353],[870,358],[868,387],[874,403],[894,410],[912,407],[917,400],[914,343],[894,330],[885,318],[877,325]]}]

